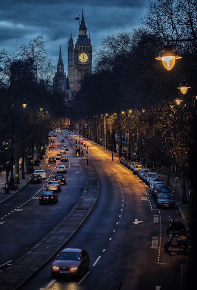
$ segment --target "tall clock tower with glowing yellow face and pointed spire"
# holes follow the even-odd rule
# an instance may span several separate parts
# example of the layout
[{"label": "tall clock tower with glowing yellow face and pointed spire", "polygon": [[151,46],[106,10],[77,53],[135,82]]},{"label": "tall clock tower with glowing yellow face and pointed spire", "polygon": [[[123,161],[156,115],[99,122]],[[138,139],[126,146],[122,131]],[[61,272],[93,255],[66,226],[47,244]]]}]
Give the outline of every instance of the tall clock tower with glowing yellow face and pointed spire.
[{"label": "tall clock tower with glowing yellow face and pointed spire", "polygon": [[78,39],[74,46],[74,92],[79,91],[84,76],[92,71],[92,44],[90,35],[87,35],[87,27],[82,18],[79,25]]}]

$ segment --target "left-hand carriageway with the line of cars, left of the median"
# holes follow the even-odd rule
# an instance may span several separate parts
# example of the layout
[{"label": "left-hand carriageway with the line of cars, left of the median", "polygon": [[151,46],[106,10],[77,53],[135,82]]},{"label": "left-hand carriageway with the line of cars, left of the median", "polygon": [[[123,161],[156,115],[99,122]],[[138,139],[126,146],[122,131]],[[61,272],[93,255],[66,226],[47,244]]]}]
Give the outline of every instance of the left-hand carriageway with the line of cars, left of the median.
[{"label": "left-hand carriageway with the line of cars, left of the median", "polygon": [[[66,140],[60,143],[59,137],[55,138],[56,148],[49,150],[49,156],[56,156],[63,145],[70,145]],[[0,266],[9,262],[12,264],[42,238],[44,238],[75,206],[82,196],[85,188],[85,173],[80,161],[73,156],[75,150],[71,146],[66,155],[68,162],[56,164],[46,162],[43,169],[47,172],[42,183],[28,183],[10,199],[0,204]],[[53,180],[56,166],[67,166],[66,185],[62,185],[58,193],[58,203],[39,205],[39,196],[46,188],[46,183]],[[4,267],[0,267],[2,271]]]}]

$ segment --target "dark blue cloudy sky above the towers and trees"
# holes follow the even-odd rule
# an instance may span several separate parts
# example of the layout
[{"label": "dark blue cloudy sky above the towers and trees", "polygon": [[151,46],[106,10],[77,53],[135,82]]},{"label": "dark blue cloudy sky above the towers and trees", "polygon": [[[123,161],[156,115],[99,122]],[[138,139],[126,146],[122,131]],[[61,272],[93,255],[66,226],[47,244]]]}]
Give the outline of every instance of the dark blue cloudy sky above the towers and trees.
[{"label": "dark blue cloudy sky above the towers and trees", "polygon": [[77,39],[82,14],[92,44],[99,47],[103,36],[130,31],[145,13],[148,0],[0,0],[0,48],[13,50],[37,35],[49,43],[49,55],[57,62],[59,47],[67,73],[67,42]]}]

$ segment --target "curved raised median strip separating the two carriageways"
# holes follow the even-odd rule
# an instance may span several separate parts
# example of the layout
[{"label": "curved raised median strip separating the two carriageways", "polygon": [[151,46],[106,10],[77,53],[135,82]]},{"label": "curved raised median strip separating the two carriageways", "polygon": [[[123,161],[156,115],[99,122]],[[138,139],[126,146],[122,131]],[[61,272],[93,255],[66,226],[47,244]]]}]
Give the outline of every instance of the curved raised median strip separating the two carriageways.
[{"label": "curved raised median strip separating the two carriageways", "polygon": [[46,237],[0,273],[0,289],[19,289],[36,271],[46,264],[74,235],[94,208],[99,196],[99,176],[95,167],[81,160],[86,174],[83,195],[75,207]]}]

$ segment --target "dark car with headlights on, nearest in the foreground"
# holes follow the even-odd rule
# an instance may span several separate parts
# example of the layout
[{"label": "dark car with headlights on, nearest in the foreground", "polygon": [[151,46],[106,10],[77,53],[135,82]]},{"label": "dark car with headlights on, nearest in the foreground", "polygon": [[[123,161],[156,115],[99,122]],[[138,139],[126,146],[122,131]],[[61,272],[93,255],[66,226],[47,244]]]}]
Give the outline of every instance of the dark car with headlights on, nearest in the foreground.
[{"label": "dark car with headlights on, nearest in the foreground", "polygon": [[51,265],[51,277],[78,276],[88,272],[90,256],[85,249],[66,248],[59,252]]}]

